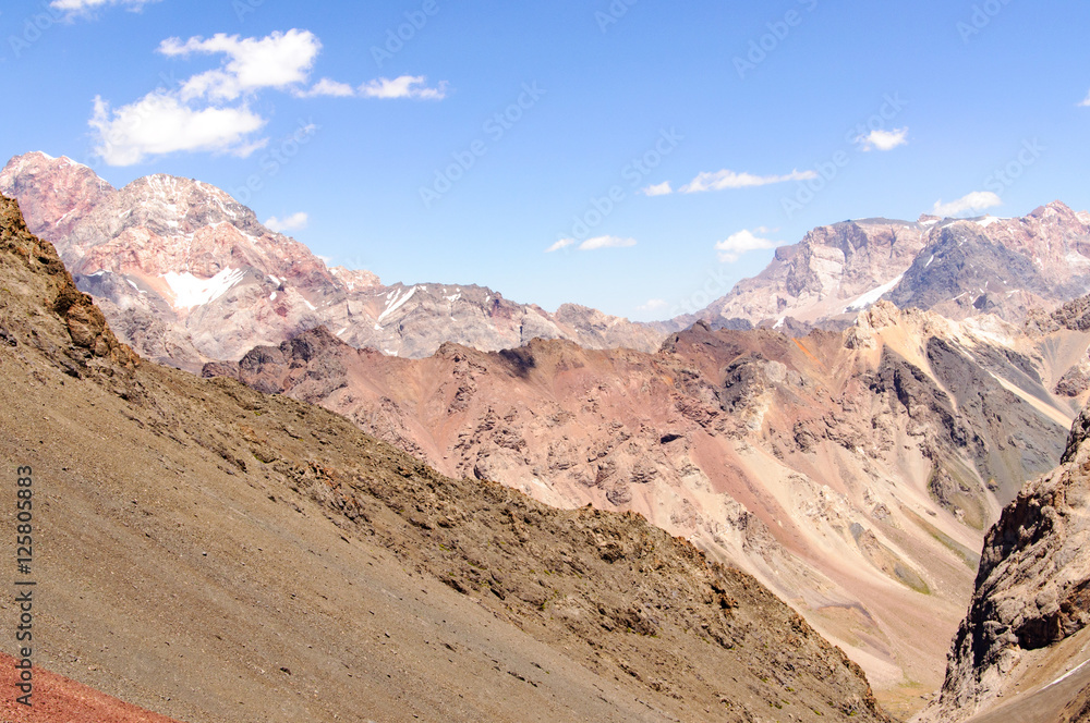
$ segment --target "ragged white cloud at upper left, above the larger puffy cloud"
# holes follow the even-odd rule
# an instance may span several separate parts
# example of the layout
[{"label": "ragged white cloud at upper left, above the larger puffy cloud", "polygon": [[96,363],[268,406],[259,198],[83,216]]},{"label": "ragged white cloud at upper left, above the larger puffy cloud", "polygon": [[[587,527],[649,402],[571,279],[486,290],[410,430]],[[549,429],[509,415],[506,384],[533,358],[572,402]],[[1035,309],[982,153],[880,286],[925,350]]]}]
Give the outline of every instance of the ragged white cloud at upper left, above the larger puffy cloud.
[{"label": "ragged white cloud at upper left, above the larger puffy cloud", "polygon": [[193,37],[182,42],[168,38],[159,52],[168,58],[193,53],[223,54],[219,70],[194,75],[182,84],[182,99],[235,100],[262,88],[287,88],[306,81],[322,42],[310,30],[292,28],[264,38],[240,38],[219,33],[208,39]]}]

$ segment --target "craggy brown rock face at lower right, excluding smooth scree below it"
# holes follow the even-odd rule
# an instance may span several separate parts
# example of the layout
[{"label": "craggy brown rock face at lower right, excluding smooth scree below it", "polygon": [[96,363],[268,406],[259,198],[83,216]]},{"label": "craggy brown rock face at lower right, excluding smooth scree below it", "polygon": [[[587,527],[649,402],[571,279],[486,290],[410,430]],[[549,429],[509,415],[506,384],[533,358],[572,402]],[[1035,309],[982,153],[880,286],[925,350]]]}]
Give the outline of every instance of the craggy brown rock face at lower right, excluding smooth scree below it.
[{"label": "craggy brown rock face at lower right, excluding smooth scree below it", "polygon": [[994,704],[1027,651],[1090,623],[1090,410],[1059,467],[1028,483],[984,540],[976,592],[958,628],[929,720],[959,721]]}]

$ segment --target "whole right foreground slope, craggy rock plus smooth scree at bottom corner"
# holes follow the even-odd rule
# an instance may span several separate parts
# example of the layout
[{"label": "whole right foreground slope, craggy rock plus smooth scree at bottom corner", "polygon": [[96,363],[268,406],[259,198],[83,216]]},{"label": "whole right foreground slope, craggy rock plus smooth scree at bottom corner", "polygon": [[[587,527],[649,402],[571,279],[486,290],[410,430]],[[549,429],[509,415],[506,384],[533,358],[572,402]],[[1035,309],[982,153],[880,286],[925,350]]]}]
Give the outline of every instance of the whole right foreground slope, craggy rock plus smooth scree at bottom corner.
[{"label": "whole right foreground slope, craggy rock plus smooth scree at bottom corner", "polygon": [[1083,721],[1090,715],[1090,413],[1062,464],[989,530],[941,697],[921,723]]}]

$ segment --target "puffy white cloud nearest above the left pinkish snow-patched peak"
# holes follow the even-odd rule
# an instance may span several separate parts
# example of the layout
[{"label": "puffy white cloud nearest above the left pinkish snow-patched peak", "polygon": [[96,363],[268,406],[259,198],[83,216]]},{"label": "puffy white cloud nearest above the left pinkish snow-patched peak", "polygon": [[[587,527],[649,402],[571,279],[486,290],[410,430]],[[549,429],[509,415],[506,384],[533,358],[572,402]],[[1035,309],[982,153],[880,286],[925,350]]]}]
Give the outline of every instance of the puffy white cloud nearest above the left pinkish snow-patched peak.
[{"label": "puffy white cloud nearest above the left pinkish snow-patched peak", "polygon": [[194,109],[169,94],[152,93],[118,109],[95,98],[89,125],[97,132],[95,152],[110,166],[133,166],[148,156],[179,150],[249,156],[263,145],[251,134],[265,119],[249,108]]}]

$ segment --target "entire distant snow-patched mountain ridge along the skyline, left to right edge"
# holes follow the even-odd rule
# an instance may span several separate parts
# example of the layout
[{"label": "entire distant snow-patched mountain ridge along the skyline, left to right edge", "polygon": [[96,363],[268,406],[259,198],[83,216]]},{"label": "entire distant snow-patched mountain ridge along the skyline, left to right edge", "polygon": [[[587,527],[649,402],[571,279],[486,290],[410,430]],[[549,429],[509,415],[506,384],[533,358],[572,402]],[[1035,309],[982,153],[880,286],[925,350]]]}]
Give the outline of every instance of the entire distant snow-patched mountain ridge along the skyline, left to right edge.
[{"label": "entire distant snow-patched mountain ridge along the skyline, left to right edge", "polygon": [[1090,213],[1059,201],[1016,219],[818,226],[703,310],[642,323],[572,304],[549,314],[472,284],[385,285],[370,271],[329,268],[199,181],[160,174],[116,189],[85,166],[31,152],[0,172],[0,192],[57,244],[122,339],[192,371],[319,324],[351,346],[408,358],[446,342],[498,351],[535,338],[651,352],[697,320],[802,335],[847,328],[885,298],[1020,323],[1090,291]]}]

